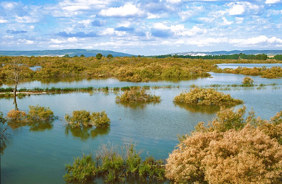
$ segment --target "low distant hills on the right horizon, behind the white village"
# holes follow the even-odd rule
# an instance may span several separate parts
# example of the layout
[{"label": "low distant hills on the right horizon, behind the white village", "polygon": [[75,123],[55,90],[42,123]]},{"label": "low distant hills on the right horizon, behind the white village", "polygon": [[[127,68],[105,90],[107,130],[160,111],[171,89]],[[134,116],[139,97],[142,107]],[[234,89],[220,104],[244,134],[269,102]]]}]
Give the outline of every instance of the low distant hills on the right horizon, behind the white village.
[{"label": "low distant hills on the right horizon, behind the white village", "polygon": [[214,52],[178,52],[171,53],[171,55],[231,55],[231,54],[266,54],[266,55],[277,55],[282,54],[282,50],[232,50],[232,51],[214,51]]}]

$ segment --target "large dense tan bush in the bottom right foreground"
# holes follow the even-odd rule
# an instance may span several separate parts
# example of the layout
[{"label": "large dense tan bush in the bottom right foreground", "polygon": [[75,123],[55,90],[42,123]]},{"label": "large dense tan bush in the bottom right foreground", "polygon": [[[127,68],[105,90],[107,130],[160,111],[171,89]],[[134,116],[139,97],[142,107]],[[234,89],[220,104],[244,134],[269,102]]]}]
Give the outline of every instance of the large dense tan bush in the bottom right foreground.
[{"label": "large dense tan bush in the bottom right foreground", "polygon": [[169,155],[166,177],[176,183],[281,183],[282,146],[276,137],[282,112],[271,122],[252,111],[244,120],[244,114],[245,108],[222,109],[212,123],[199,123]]}]

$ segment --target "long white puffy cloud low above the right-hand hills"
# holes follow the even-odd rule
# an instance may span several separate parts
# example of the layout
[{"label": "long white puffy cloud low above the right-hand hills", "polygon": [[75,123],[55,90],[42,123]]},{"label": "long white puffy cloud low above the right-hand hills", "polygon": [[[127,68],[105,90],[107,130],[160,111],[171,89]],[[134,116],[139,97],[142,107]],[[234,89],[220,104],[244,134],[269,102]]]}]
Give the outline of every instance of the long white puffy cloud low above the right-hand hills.
[{"label": "long white puffy cloud low above the right-hand hills", "polygon": [[252,37],[247,39],[232,39],[229,41],[231,44],[236,44],[240,46],[248,46],[248,45],[265,45],[265,44],[282,44],[282,40],[280,38],[276,38],[273,36],[272,38],[268,38],[265,35],[260,35],[258,37]]}]

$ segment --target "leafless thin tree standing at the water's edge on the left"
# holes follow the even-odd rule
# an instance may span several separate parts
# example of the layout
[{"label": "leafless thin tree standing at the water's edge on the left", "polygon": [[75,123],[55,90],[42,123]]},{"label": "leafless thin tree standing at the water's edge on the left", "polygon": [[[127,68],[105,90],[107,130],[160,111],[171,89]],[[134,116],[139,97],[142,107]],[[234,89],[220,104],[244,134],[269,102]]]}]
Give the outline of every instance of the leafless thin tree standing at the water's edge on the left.
[{"label": "leafless thin tree standing at the water's edge on the left", "polygon": [[14,97],[16,97],[17,93],[17,85],[20,83],[24,78],[22,76],[22,66],[20,65],[19,59],[13,59],[11,57],[12,63],[11,65],[11,71],[7,77],[8,80],[12,81],[15,84],[15,88],[13,89]]}]

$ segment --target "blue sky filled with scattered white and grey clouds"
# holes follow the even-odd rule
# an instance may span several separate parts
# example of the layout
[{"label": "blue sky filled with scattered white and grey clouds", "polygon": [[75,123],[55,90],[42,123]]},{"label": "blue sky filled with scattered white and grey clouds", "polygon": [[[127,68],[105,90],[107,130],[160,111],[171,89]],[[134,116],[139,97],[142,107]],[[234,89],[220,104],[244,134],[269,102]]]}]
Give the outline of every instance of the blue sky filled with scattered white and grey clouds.
[{"label": "blue sky filled with scattered white and grey clouds", "polygon": [[0,1],[0,50],[282,50],[282,0]]}]

